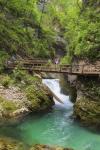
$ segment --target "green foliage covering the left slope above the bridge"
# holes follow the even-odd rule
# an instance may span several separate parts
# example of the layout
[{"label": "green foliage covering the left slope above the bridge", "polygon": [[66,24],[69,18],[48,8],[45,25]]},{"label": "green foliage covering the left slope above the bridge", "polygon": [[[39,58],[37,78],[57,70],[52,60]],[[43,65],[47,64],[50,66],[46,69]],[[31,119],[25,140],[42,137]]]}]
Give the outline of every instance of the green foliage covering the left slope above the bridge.
[{"label": "green foliage covering the left slope above the bridge", "polygon": [[51,6],[45,6],[48,11],[41,20],[38,0],[0,0],[0,49],[10,55],[50,57],[57,34],[54,16],[60,18],[57,12],[53,15]]}]

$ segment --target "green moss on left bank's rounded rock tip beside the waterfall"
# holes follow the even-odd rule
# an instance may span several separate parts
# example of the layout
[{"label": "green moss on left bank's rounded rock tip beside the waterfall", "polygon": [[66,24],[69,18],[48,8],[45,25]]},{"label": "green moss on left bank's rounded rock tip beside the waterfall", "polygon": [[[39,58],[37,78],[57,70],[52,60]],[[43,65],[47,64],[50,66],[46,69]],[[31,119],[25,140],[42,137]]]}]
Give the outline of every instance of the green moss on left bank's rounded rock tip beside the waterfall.
[{"label": "green moss on left bank's rounded rock tip beside the waterfall", "polygon": [[37,86],[28,86],[26,88],[26,96],[31,102],[33,111],[45,110],[53,105],[53,101],[50,99],[49,95]]}]

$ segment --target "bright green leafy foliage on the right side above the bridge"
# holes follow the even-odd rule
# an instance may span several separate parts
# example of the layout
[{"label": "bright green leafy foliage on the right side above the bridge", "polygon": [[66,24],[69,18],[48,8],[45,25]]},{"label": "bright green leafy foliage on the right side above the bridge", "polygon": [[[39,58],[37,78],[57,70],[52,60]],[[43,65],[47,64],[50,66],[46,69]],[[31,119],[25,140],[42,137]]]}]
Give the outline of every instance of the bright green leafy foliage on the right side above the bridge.
[{"label": "bright green leafy foliage on the right side above the bridge", "polygon": [[65,37],[69,56],[96,60],[100,59],[100,13],[95,2],[91,4],[93,7],[90,4],[91,1],[85,8],[81,3],[75,3],[72,9],[69,7]]}]

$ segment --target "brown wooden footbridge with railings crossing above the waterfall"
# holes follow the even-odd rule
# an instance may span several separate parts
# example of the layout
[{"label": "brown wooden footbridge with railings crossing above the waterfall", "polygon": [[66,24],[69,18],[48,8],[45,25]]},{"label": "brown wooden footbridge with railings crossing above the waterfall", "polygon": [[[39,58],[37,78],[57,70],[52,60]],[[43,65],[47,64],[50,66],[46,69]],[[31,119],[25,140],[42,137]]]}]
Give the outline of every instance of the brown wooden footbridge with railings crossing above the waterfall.
[{"label": "brown wooden footbridge with railings crossing above the waterfall", "polygon": [[6,68],[14,69],[20,66],[22,70],[51,72],[51,73],[67,73],[76,75],[100,75],[100,63],[83,64],[83,65],[60,65],[49,63],[48,60],[26,59],[19,61],[7,61]]}]

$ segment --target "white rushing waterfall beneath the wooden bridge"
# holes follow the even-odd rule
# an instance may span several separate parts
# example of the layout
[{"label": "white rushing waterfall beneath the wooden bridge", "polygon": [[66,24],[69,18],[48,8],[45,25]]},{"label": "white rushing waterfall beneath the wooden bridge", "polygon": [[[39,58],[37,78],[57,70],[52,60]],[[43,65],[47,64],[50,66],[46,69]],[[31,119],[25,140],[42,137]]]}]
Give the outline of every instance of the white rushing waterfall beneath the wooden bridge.
[{"label": "white rushing waterfall beneath the wooden bridge", "polygon": [[50,88],[51,91],[55,93],[55,95],[61,99],[63,104],[59,103],[55,98],[55,107],[71,109],[73,107],[72,102],[69,100],[69,96],[64,95],[61,93],[59,79],[43,79],[42,81],[46,86]]}]

